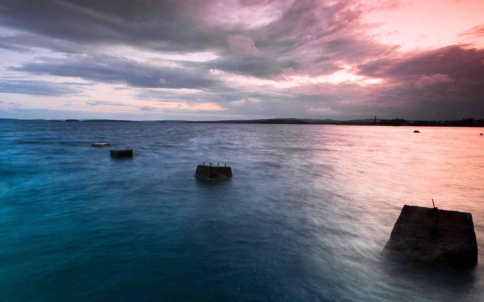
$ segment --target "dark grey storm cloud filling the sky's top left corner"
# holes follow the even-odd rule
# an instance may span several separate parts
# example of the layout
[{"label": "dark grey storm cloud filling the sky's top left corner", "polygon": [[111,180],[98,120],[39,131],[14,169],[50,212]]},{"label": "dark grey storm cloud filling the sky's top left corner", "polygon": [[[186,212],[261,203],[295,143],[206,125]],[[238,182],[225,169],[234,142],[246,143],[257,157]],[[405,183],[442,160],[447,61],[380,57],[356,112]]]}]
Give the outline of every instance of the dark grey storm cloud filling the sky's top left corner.
[{"label": "dark grey storm cloud filling the sky's top left corner", "polygon": [[75,43],[147,43],[159,50],[200,50],[218,36],[197,27],[197,16],[210,2],[6,0],[0,4],[0,25]]}]

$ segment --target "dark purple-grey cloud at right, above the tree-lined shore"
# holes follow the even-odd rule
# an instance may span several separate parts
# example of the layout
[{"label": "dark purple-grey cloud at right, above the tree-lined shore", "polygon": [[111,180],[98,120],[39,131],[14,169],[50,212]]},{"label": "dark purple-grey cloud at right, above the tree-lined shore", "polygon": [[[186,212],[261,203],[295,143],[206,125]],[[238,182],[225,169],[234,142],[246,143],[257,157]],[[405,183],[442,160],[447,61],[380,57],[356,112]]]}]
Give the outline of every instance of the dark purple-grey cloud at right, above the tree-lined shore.
[{"label": "dark purple-grey cloud at right, above the tree-lined shore", "polygon": [[374,60],[360,65],[360,74],[385,79],[387,84],[375,88],[371,97],[401,115],[480,116],[484,113],[483,60],[484,49],[453,45]]}]

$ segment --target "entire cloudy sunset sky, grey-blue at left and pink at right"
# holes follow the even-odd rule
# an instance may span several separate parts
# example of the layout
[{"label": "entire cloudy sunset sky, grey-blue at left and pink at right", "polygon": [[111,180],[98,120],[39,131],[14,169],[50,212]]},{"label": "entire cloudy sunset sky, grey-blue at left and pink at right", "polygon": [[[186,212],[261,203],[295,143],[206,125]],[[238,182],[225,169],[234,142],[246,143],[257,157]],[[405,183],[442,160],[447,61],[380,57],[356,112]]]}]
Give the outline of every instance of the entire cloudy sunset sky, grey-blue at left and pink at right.
[{"label": "entire cloudy sunset sky, grey-blue at left and pink at right", "polygon": [[0,0],[0,118],[484,117],[482,0]]}]

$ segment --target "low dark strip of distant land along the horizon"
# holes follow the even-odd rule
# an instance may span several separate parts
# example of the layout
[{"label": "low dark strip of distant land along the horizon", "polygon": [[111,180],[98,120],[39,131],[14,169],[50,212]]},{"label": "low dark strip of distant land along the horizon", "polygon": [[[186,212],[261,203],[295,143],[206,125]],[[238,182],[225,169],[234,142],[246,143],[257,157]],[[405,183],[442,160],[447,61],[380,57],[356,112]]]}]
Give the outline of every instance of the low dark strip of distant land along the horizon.
[{"label": "low dark strip of distant land along the horizon", "polygon": [[[14,118],[0,118],[0,120],[21,120]],[[354,125],[354,126],[416,126],[416,127],[484,127],[484,119],[472,117],[461,120],[407,120],[403,118],[382,119],[312,119],[312,118],[266,118],[266,119],[229,119],[216,121],[187,121],[187,120],[119,120],[119,119],[66,119],[46,120],[30,119],[29,121],[51,122],[100,122],[100,123],[200,123],[200,124],[292,124],[292,125]]]}]

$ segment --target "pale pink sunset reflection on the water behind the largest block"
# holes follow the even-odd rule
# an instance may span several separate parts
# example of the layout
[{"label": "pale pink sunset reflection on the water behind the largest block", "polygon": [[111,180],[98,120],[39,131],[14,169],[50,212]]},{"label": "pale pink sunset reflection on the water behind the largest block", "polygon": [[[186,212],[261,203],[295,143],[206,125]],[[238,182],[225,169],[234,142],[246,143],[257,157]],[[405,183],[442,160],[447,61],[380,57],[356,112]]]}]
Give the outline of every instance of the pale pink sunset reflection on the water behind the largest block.
[{"label": "pale pink sunset reflection on the water behind the largest block", "polygon": [[[418,129],[421,133],[413,133]],[[481,128],[323,126],[314,163],[331,163],[319,189],[340,192],[328,204],[351,215],[345,226],[361,235],[348,246],[374,253],[388,240],[404,204],[470,212],[479,249],[484,250],[484,138]],[[331,133],[331,135],[329,135]],[[326,140],[327,138],[334,138]],[[336,151],[336,152],[335,152]],[[479,264],[483,265],[482,257]]]}]

